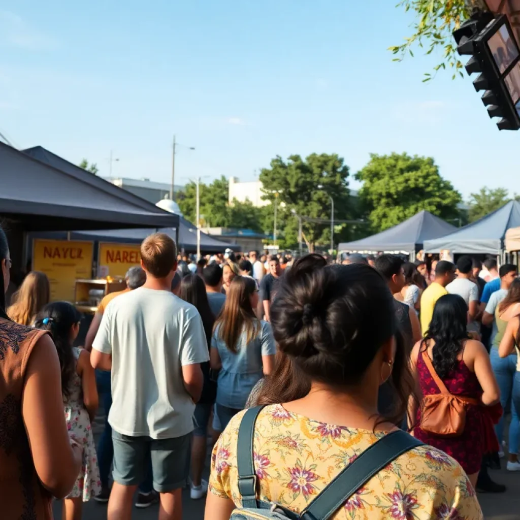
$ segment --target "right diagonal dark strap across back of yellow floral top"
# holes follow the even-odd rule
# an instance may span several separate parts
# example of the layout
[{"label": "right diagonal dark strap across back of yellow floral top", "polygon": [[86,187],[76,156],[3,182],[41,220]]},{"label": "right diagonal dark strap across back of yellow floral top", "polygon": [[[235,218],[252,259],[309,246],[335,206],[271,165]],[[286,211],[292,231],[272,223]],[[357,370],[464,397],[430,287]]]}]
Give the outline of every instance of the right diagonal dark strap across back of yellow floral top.
[{"label": "right diagonal dark strap across back of yellow floral top", "polygon": [[402,430],[385,435],[363,451],[321,491],[303,511],[301,520],[328,520],[374,475],[403,453],[422,444]]}]

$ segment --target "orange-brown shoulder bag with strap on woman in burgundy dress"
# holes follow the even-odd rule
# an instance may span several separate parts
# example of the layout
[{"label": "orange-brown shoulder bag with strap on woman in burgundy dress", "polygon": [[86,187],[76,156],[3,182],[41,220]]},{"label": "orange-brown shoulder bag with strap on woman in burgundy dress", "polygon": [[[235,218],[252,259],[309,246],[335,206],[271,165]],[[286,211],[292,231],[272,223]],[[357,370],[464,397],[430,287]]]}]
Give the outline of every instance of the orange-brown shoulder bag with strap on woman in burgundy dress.
[{"label": "orange-brown shoulder bag with strap on woman in burgundy dress", "polygon": [[437,384],[440,394],[423,397],[421,405],[421,430],[440,437],[458,437],[464,432],[466,425],[466,408],[468,405],[478,406],[479,401],[471,397],[453,395],[439,378],[433,368],[432,360],[426,350],[422,353],[423,361]]}]

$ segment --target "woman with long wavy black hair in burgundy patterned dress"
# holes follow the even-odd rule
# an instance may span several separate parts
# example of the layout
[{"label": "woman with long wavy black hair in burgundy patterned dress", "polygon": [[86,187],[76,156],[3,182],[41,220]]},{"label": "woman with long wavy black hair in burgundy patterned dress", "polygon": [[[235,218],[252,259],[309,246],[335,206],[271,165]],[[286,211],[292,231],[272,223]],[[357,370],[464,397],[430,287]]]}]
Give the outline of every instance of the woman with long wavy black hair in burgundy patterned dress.
[{"label": "woman with long wavy black hair in burgundy patterned dress", "polygon": [[[467,305],[458,294],[441,296],[435,304],[430,328],[412,350],[411,363],[423,397],[442,393],[440,380],[452,395],[475,399],[466,406],[464,431],[459,436],[440,436],[421,428],[423,410],[411,403],[410,418],[417,418],[414,435],[453,457],[475,486],[482,457],[492,451],[484,435],[485,407],[500,402],[500,390],[486,347],[471,340],[467,330]],[[435,372],[432,372],[432,370]],[[496,438],[494,444],[496,445]]]}]

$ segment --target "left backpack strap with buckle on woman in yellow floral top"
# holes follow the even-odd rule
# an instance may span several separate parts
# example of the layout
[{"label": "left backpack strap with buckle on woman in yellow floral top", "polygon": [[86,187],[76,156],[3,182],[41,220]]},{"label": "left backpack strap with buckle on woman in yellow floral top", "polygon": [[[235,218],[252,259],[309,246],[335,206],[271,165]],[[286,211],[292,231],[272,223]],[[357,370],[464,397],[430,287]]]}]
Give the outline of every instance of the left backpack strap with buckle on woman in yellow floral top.
[{"label": "left backpack strap with buckle on woman in yellow floral top", "polygon": [[238,430],[238,490],[242,497],[242,507],[246,509],[258,508],[258,502],[256,500],[256,475],[253,461],[253,440],[256,419],[263,408],[263,406],[256,406],[246,411]]}]

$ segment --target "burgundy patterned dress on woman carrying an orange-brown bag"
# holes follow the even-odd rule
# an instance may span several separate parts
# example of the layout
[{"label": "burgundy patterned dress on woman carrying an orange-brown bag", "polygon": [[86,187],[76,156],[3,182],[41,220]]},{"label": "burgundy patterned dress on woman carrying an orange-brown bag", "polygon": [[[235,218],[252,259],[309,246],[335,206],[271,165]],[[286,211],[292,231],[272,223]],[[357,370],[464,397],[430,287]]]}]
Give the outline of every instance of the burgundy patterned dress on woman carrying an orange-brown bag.
[{"label": "burgundy patterned dress on woman carrying an orange-brown bag", "polygon": [[[440,394],[440,390],[433,380],[422,353],[417,359],[417,370],[419,382],[423,395]],[[448,378],[443,379],[448,391],[453,395],[461,395],[479,399],[482,396],[482,387],[477,376],[466,367],[464,361],[458,361],[454,370],[449,373]],[[418,410],[417,424],[421,421],[421,410]],[[464,432],[459,437],[440,437],[424,432],[420,427],[414,428],[414,435],[439,450],[453,457],[464,469],[466,474],[472,475],[480,471],[482,457],[486,450],[486,442],[483,435],[483,411],[478,406],[467,407],[466,425]]]}]

